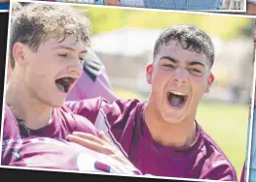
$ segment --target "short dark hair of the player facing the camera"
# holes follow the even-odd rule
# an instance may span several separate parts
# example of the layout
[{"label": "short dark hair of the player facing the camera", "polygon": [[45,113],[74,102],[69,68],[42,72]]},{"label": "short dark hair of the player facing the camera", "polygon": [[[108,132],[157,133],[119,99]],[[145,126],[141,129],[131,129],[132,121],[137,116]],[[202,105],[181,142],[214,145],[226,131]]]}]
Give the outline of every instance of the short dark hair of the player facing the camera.
[{"label": "short dark hair of the player facing the camera", "polygon": [[210,37],[195,25],[179,24],[165,29],[158,38],[154,47],[154,60],[156,60],[159,49],[170,41],[176,41],[182,48],[204,53],[210,62],[214,63],[214,45]]}]

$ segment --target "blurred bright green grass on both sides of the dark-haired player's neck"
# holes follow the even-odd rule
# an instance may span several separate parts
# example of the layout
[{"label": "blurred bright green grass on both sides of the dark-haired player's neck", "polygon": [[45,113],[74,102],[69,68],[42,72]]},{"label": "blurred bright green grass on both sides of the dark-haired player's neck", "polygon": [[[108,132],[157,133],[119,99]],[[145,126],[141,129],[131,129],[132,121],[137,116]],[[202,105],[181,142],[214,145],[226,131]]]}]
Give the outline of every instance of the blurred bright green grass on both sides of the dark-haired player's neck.
[{"label": "blurred bright green grass on both sides of the dark-haired player's neck", "polygon": [[[120,99],[146,99],[127,90],[114,91]],[[198,122],[230,159],[238,179],[245,160],[248,114],[248,106],[203,103],[198,109]]]}]

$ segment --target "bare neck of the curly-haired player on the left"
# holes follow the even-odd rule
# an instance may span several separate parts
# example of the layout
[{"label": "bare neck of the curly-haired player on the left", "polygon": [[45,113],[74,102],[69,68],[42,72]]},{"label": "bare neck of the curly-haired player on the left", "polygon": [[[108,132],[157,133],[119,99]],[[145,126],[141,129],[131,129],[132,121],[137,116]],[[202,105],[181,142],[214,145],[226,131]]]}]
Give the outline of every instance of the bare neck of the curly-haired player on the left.
[{"label": "bare neck of the curly-haired player on the left", "polygon": [[33,130],[43,128],[49,124],[52,107],[39,101],[23,83],[23,81],[10,80],[7,86],[6,103],[27,128]]}]

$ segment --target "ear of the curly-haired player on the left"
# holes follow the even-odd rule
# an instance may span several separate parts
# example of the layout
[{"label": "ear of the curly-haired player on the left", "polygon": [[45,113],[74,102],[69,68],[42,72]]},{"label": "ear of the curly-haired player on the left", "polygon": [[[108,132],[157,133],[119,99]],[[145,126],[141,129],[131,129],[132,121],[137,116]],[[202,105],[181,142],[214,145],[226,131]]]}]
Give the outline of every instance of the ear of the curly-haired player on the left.
[{"label": "ear of the curly-haired player on the left", "polygon": [[26,65],[24,49],[25,49],[25,47],[21,43],[16,43],[13,46],[13,55],[15,58],[15,62],[16,62],[16,65],[18,65],[20,67]]}]

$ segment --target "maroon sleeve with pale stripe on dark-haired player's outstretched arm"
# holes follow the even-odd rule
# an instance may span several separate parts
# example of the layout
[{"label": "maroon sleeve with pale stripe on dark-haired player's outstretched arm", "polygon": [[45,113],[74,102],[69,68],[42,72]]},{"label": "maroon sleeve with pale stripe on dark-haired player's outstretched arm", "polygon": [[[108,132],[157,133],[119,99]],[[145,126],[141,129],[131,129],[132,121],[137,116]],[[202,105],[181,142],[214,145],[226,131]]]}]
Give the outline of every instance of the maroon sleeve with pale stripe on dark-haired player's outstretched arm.
[{"label": "maroon sleeve with pale stripe on dark-haired player's outstretched arm", "polygon": [[[138,100],[106,102],[102,98],[69,102],[73,113],[87,117],[128,158]],[[122,143],[122,144],[121,144]]]}]

